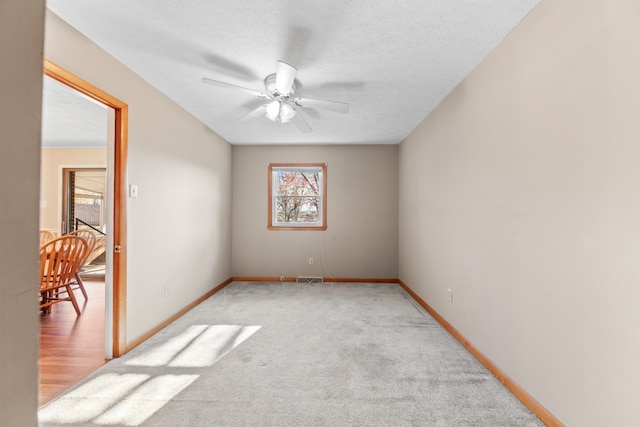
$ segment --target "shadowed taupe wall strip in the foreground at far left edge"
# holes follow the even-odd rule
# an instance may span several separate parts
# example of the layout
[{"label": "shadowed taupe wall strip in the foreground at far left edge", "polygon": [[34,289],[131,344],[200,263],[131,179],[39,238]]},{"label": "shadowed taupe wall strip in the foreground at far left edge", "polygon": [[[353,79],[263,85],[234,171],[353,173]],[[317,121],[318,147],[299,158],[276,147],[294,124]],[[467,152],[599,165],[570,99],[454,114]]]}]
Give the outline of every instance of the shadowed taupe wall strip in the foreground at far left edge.
[{"label": "shadowed taupe wall strip in the foreground at far left edge", "polygon": [[35,426],[44,2],[0,6],[0,420]]}]

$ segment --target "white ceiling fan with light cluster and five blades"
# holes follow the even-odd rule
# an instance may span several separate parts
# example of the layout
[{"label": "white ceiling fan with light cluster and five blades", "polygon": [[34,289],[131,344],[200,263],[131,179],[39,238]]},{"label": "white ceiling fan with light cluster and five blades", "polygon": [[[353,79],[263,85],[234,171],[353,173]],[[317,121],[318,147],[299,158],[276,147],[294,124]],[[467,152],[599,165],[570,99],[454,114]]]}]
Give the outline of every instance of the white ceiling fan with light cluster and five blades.
[{"label": "white ceiling fan with light cluster and five blades", "polygon": [[349,104],[337,101],[325,101],[312,98],[301,98],[294,96],[296,93],[296,74],[298,69],[283,61],[277,62],[276,73],[264,79],[265,91],[249,89],[231,83],[203,78],[202,82],[214,86],[233,88],[245,92],[258,98],[265,99],[266,102],[250,111],[242,117],[240,121],[250,120],[264,115],[269,120],[280,123],[293,122],[301,132],[310,132],[311,126],[300,114],[302,108],[314,108],[318,110],[328,110],[337,113],[347,113]]}]

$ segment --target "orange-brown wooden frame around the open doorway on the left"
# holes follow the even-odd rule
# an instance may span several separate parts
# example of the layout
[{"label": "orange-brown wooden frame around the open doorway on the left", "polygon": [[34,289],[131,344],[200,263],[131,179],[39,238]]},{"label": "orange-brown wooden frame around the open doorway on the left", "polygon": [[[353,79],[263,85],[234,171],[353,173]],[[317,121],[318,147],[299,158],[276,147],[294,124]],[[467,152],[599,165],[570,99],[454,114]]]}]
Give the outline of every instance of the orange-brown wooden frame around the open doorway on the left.
[{"label": "orange-brown wooden frame around the open doorway on the left", "polygon": [[[129,106],[89,82],[44,60],[44,74],[100,102],[115,112],[114,133],[114,194],[113,194],[113,356],[126,352],[126,289],[127,289],[127,151]],[[119,248],[119,250],[115,250]]]}]

